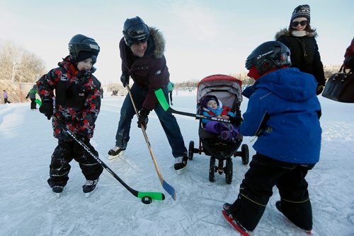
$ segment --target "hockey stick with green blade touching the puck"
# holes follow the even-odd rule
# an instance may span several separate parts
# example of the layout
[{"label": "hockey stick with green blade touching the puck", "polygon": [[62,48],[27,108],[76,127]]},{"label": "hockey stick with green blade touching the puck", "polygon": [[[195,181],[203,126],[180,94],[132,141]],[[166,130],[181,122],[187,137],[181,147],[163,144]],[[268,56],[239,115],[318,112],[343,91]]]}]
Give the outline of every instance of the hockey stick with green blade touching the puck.
[{"label": "hockey stick with green blade touching the puck", "polygon": [[[35,100],[35,102],[37,102],[38,105],[42,105],[42,102],[40,100]],[[151,199],[154,200],[164,200],[165,199],[165,195],[159,192],[151,192],[151,191],[137,191],[135,189],[132,189],[131,187],[129,187],[127,184],[125,184],[124,181],[122,181],[122,179],[120,179],[120,177],[118,177],[118,175],[115,174],[115,172],[113,172],[113,170],[110,169],[110,167],[108,167],[107,165],[105,165],[105,163],[103,163],[103,161],[98,158],[97,155],[95,155],[94,153],[92,153],[91,149],[86,146],[85,143],[83,143],[79,138],[77,138],[75,136],[75,134],[67,128],[67,126],[65,126],[57,117],[55,117],[54,115],[52,115],[52,119],[55,120],[55,122],[57,122],[60,126],[63,127],[63,129],[65,131],[67,131],[67,133],[72,136],[72,138],[74,138],[74,140],[79,143],[79,145],[81,147],[83,147],[87,153],[89,153],[93,158],[95,158],[95,160],[97,160],[97,162],[102,165],[103,168],[105,168],[105,170],[107,170],[110,175],[112,175],[113,177],[115,177],[115,179],[118,180],[118,182],[120,182],[120,184],[122,184],[122,186],[125,187],[125,189],[127,189],[128,191],[130,191],[131,194],[133,194],[134,196],[136,196],[139,199],[144,199],[145,197],[149,197]]]}]

